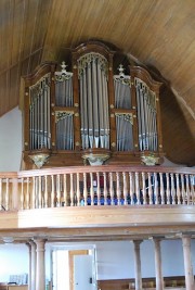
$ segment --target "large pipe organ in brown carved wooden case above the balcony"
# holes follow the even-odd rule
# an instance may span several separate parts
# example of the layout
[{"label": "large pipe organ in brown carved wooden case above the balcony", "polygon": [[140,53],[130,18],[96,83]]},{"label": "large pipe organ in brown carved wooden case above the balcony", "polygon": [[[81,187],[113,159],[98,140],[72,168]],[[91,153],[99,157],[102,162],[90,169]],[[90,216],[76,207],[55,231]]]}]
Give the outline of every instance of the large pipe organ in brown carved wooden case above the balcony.
[{"label": "large pipe organ in brown carved wooden case above the balcony", "polygon": [[90,41],[73,50],[73,73],[44,63],[24,77],[23,169],[160,163],[161,83],[140,66],[115,72],[114,55]]}]

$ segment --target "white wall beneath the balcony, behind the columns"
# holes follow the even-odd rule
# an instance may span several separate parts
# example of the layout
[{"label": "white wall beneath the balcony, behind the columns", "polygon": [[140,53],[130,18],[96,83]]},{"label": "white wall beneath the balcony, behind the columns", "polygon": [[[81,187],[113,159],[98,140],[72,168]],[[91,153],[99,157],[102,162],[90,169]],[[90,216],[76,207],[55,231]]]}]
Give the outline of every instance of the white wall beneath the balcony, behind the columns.
[{"label": "white wall beneath the balcony, behind the columns", "polygon": [[[67,243],[64,243],[67,245]],[[80,249],[78,244],[78,249]],[[90,243],[89,243],[90,244]],[[134,256],[131,241],[104,241],[96,247],[98,279],[134,278]],[[70,243],[68,243],[70,245]],[[75,247],[75,243],[74,243]],[[51,279],[51,249],[46,247],[46,278]],[[195,274],[195,239],[192,240],[192,264]],[[181,240],[161,241],[162,275],[184,276],[183,249]],[[142,277],[155,277],[154,245],[152,240],[141,243]],[[0,281],[8,281],[9,275],[28,273],[28,248],[24,244],[0,244]]]}]

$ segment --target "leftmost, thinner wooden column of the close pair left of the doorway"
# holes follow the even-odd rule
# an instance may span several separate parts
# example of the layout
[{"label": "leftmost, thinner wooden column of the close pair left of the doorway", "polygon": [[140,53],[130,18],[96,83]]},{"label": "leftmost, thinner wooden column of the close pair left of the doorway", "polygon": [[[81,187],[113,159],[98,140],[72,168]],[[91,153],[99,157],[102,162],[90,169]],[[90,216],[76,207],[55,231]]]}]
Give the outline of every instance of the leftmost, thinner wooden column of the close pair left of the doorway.
[{"label": "leftmost, thinner wooden column of the close pair left of the doorway", "polygon": [[30,274],[28,285],[30,290],[36,290],[36,267],[37,267],[37,254],[36,254],[36,243],[34,241],[29,241],[30,244]]}]

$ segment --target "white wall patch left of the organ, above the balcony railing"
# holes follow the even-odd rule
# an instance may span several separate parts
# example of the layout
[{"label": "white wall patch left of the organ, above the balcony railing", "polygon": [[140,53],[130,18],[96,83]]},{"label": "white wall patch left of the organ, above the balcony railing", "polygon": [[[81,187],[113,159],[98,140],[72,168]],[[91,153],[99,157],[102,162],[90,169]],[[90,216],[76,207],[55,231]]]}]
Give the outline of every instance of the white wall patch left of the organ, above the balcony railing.
[{"label": "white wall patch left of the organ, above the balcony railing", "polygon": [[0,117],[0,172],[17,172],[22,160],[22,112],[18,108]]}]

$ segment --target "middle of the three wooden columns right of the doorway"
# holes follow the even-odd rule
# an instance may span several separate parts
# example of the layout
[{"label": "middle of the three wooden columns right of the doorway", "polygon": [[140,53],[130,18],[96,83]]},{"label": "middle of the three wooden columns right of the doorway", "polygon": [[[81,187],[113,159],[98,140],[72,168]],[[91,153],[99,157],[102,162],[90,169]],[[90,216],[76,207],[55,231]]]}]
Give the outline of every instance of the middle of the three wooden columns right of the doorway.
[{"label": "middle of the three wooden columns right of the doorway", "polygon": [[161,251],[160,239],[153,239],[155,248],[155,269],[156,269],[156,290],[164,290],[164,278],[161,273]]}]

